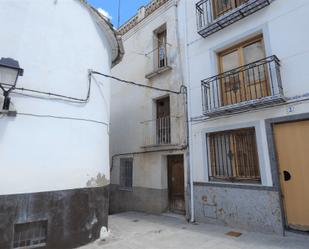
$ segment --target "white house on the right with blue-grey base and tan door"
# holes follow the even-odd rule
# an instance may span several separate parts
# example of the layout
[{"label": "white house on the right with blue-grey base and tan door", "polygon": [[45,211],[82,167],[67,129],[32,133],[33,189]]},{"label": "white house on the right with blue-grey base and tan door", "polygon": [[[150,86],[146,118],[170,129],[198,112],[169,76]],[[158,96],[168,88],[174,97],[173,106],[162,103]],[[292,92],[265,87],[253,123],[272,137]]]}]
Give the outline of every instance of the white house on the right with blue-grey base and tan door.
[{"label": "white house on the right with blue-grey base and tan door", "polygon": [[181,8],[195,220],[308,232],[308,1]]}]

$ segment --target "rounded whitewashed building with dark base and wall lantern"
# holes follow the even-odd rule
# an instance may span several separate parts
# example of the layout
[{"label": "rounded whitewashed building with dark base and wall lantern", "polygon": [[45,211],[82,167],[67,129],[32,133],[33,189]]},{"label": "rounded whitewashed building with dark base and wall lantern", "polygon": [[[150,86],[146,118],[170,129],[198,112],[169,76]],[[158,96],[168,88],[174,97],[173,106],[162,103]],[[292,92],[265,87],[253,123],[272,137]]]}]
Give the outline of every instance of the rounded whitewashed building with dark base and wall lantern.
[{"label": "rounded whitewashed building with dark base and wall lantern", "polygon": [[1,60],[0,248],[77,247],[107,226],[110,82],[89,70],[109,73],[121,39],[82,0],[4,0],[0,27],[23,69],[11,89]]}]

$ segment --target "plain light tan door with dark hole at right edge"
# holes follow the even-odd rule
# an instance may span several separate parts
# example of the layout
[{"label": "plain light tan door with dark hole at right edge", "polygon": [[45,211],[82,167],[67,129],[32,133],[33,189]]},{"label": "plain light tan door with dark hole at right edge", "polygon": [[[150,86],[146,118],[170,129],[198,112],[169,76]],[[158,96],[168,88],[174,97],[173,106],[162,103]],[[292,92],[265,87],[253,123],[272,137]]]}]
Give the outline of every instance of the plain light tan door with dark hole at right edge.
[{"label": "plain light tan door with dark hole at right edge", "polygon": [[274,134],[287,224],[309,231],[309,121],[276,124]]}]

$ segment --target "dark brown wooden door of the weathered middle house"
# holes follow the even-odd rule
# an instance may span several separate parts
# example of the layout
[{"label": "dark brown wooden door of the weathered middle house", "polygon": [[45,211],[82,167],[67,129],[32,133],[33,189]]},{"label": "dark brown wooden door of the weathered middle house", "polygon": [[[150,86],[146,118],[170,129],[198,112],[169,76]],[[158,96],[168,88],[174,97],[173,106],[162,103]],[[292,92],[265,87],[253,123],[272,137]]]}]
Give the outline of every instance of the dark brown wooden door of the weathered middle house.
[{"label": "dark brown wooden door of the weathered middle house", "polygon": [[173,212],[185,212],[183,155],[168,156],[169,208]]}]

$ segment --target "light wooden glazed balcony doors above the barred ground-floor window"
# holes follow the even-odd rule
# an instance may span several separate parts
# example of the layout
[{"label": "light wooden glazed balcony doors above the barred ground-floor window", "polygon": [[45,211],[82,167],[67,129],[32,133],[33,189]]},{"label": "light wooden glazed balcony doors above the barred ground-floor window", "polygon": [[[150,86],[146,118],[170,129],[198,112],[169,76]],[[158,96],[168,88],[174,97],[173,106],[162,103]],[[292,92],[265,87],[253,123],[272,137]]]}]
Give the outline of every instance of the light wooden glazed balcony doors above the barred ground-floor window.
[{"label": "light wooden glazed balcony doors above the barred ground-floor window", "polygon": [[[261,63],[265,58],[263,37],[258,36],[218,54],[221,77],[221,99],[223,105],[259,99],[269,96],[268,65]],[[246,65],[250,65],[246,67]],[[241,68],[239,70],[233,69]]]}]

